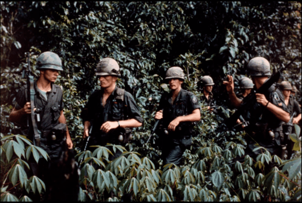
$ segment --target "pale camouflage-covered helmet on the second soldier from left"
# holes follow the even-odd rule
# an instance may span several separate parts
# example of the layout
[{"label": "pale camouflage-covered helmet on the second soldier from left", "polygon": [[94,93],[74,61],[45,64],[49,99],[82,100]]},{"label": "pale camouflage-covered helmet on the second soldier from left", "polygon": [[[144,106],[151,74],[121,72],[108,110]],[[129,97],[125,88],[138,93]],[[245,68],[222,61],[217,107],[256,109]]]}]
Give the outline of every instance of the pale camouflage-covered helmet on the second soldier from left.
[{"label": "pale camouflage-covered helmet on the second soldier from left", "polygon": [[116,75],[121,76],[119,66],[113,58],[103,58],[96,65],[96,75]]}]

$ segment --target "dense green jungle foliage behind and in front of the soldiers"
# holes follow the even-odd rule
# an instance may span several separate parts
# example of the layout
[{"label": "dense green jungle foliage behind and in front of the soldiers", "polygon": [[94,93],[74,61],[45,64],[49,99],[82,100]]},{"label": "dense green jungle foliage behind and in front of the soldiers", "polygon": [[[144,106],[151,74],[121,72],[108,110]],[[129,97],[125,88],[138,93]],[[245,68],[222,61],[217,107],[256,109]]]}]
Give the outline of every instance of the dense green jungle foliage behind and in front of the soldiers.
[{"label": "dense green jungle foliage behind and in front of the soldiers", "polygon": [[[44,189],[37,177],[26,176],[24,168],[29,167],[26,159],[31,153],[46,158],[45,152],[22,136],[10,136],[14,126],[7,119],[19,87],[25,84],[21,75],[28,51],[36,76],[34,65],[40,53],[53,51],[62,59],[64,72],[56,84],[64,91],[64,114],[78,160],[86,157],[81,164],[81,200],[103,200],[104,190],[117,196],[109,201],[127,192],[136,201],[301,200],[297,136],[292,135],[292,140],[298,158],[284,163],[265,152],[257,160],[246,156],[244,163],[233,162],[244,154],[245,133],[223,124],[230,107],[222,87],[227,74],[236,74],[238,84],[252,57],[267,58],[276,72],[298,55],[300,60],[283,77],[297,87],[301,100],[301,36],[299,2],[1,1],[1,201],[20,199],[22,188],[39,193]],[[131,144],[117,147],[126,152],[109,164],[105,164],[104,147],[80,151],[79,117],[89,95],[99,88],[94,69],[106,56],[119,63],[118,85],[132,93],[144,119],[143,126],[133,131]],[[224,107],[219,115],[201,112],[194,144],[186,150],[181,167],[162,166],[160,149],[144,144],[160,95],[167,91],[163,78],[171,66],[185,70],[184,89],[196,96],[200,96],[200,77],[211,75],[214,95]],[[255,168],[263,169],[270,162],[280,167],[255,173]]]}]

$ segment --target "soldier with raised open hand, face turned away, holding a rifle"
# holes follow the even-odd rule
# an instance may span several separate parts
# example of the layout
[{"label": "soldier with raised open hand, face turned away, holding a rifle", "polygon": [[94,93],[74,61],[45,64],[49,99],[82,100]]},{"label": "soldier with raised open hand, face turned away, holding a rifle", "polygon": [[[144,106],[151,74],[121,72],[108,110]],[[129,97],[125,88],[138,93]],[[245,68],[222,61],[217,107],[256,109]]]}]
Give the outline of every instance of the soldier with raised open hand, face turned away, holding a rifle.
[{"label": "soldier with raised open hand, face turned away, holding a rifle", "polygon": [[[271,75],[269,62],[263,57],[252,58],[247,64],[247,71],[256,89],[259,89]],[[228,81],[224,81],[223,84],[226,85],[232,104],[239,107],[242,100],[234,93],[233,78],[229,75],[227,78]],[[256,93],[256,100],[250,110],[250,125],[245,127],[245,131],[251,137],[245,154],[255,159],[257,155],[264,152],[262,149],[253,151],[256,148],[255,144],[258,143],[271,154],[282,157],[285,152],[282,122],[288,122],[290,119],[283,93],[273,85],[265,94]]]}]

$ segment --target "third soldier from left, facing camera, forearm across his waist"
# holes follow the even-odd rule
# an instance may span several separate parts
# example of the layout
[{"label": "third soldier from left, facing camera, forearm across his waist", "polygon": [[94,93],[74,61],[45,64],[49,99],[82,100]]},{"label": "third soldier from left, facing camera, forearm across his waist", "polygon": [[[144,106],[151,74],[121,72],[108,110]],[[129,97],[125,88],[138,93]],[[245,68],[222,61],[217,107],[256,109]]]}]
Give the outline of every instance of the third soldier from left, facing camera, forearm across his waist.
[{"label": "third soldier from left, facing camera, forearm across his waist", "polygon": [[171,91],[161,96],[155,119],[163,118],[162,126],[168,130],[168,135],[160,135],[165,144],[162,149],[164,165],[179,166],[185,149],[192,144],[192,122],[200,120],[200,107],[196,96],[181,88],[185,74],[180,67],[169,68],[165,79]]}]

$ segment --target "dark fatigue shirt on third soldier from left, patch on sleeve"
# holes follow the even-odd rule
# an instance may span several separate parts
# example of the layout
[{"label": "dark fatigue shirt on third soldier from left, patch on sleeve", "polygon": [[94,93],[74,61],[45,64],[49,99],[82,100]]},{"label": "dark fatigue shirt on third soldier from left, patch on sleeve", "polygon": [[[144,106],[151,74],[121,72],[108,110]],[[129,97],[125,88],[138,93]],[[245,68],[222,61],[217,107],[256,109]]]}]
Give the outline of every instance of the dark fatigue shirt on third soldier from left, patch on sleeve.
[{"label": "dark fatigue shirt on third soldier from left, patch on sleeve", "polygon": [[[177,118],[178,116],[189,115],[195,109],[200,109],[196,96],[192,92],[188,92],[186,90],[181,89],[175,98],[172,104],[172,92],[164,93],[160,99],[159,107],[157,111],[163,111],[163,126],[168,127],[170,122]],[[181,122],[178,126],[181,126],[184,130],[182,130],[182,134],[188,134],[189,128],[191,127],[192,122]],[[169,132],[170,134],[173,132]],[[169,135],[170,135],[169,134]],[[175,130],[176,136],[177,127]]]}]

